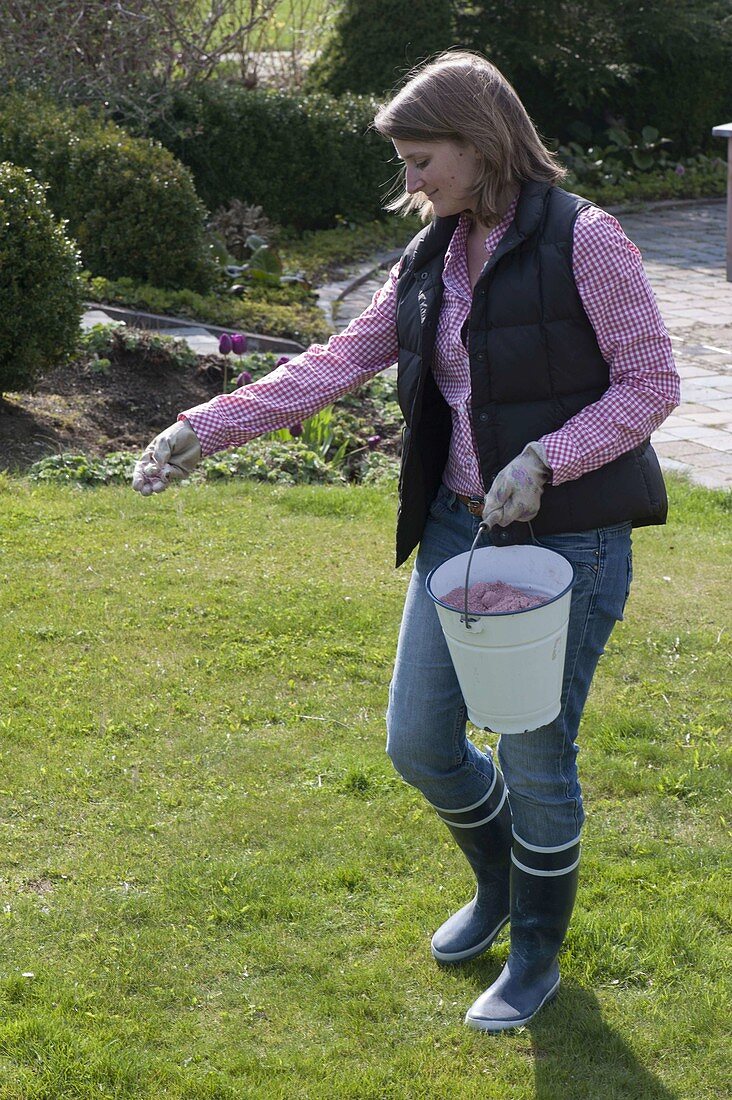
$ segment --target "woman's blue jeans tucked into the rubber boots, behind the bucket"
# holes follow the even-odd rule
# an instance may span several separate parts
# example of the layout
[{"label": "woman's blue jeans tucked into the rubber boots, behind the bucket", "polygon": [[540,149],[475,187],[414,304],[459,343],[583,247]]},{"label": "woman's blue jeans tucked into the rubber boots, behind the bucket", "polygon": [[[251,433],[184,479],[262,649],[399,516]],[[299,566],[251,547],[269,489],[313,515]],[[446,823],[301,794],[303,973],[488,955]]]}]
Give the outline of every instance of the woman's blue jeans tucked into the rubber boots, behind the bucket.
[{"label": "woman's blue jeans tucked into the rubber boots, behind the bucket", "polygon": [[[493,759],[490,749],[482,751],[466,736],[466,706],[425,580],[448,558],[470,549],[479,524],[455,493],[440,488],[406,596],[386,714],[386,751],[394,767],[434,806],[448,811],[484,799]],[[561,711],[539,729],[504,734],[498,755],[514,832],[547,848],[575,840],[584,821],[577,733],[598,660],[623,617],[632,578],[631,525],[543,536],[536,542],[561,553],[577,574]]]}]

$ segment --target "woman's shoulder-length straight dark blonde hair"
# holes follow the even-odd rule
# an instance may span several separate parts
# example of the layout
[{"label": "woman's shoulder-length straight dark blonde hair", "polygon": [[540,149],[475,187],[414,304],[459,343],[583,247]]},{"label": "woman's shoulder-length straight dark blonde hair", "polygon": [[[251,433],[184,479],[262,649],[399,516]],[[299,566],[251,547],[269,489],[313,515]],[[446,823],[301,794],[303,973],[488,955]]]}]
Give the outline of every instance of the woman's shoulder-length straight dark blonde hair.
[{"label": "woman's shoulder-length straight dark blonde hair", "polygon": [[[565,168],[543,144],[512,85],[481,54],[448,50],[413,72],[394,98],[379,109],[374,129],[396,141],[452,141],[473,145],[482,166],[471,189],[474,217],[490,226],[509,198],[528,179],[556,184]],[[424,195],[401,194],[387,210],[418,211],[433,205]]]}]

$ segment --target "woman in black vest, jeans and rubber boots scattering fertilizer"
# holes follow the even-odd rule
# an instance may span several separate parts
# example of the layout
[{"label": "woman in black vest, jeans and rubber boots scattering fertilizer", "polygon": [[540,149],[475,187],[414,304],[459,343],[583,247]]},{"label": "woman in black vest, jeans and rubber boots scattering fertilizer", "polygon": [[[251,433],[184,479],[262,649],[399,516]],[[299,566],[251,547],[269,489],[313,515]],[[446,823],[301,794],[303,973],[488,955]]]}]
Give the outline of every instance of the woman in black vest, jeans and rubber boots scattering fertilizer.
[{"label": "woman in black vest, jeans and rubber boots scattering fertilizer", "polygon": [[[397,564],[419,550],[387,751],[477,878],[474,898],[435,933],[435,958],[473,958],[510,923],[506,965],[466,1016],[502,1031],[527,1023],[559,986],[584,820],[577,733],[622,618],[631,529],[666,517],[648,438],[678,404],[678,376],[637,249],[613,218],[557,187],[562,169],[488,61],[443,54],[374,124],[405,165],[406,195],[392,208],[418,209],[429,224],[345,332],[182,414],[133,485],[160,492],[201,453],[302,420],[398,360]],[[469,548],[482,519],[493,543],[535,539],[577,573],[561,712],[502,737],[501,771],[466,736],[425,592],[427,573]]]}]

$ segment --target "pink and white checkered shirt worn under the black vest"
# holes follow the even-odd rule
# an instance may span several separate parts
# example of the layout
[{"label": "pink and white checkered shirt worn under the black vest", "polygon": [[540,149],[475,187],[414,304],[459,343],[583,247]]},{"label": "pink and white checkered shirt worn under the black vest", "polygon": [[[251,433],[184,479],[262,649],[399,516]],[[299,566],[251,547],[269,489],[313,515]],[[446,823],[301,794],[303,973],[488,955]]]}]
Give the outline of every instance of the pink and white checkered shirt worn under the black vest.
[{"label": "pink and white checkered shirt worn under the black vest", "polygon": [[[514,211],[515,202],[489,233],[487,260]],[[433,371],[452,414],[445,484],[456,493],[482,495],[485,486],[470,422],[470,362],[460,334],[472,298],[468,230],[463,217],[445,257]],[[680,399],[670,339],[641,253],[611,215],[597,207],[580,212],[572,264],[584,311],[610,369],[610,386],[600,400],[540,438],[555,485],[596,470],[647,439]],[[398,264],[371,305],[326,345],[314,344],[265,378],[182,413],[198,436],[203,453],[304,420],[395,363],[397,274]]]}]

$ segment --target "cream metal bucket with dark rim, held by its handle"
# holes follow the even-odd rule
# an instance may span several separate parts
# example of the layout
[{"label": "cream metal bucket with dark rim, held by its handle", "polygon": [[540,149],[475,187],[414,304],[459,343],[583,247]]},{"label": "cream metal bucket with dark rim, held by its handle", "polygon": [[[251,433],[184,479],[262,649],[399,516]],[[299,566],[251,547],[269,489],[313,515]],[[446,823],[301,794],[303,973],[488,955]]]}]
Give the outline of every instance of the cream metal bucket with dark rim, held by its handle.
[{"label": "cream metal bucket with dark rim, held by its handle", "polygon": [[[476,542],[478,539],[476,539]],[[469,582],[503,581],[545,601],[522,612],[467,613],[441,602]],[[575,568],[544,547],[481,547],[428,575],[468,717],[496,734],[524,734],[557,717]]]}]

